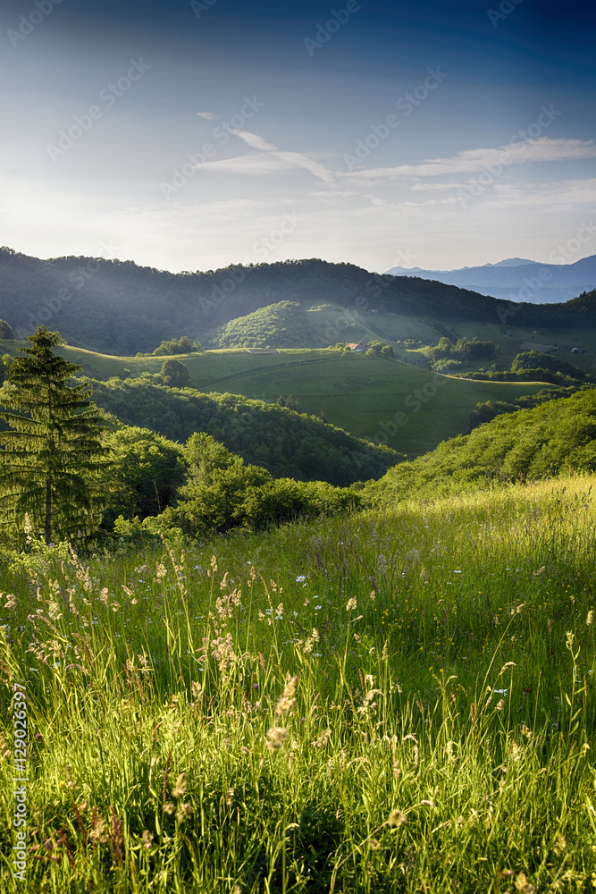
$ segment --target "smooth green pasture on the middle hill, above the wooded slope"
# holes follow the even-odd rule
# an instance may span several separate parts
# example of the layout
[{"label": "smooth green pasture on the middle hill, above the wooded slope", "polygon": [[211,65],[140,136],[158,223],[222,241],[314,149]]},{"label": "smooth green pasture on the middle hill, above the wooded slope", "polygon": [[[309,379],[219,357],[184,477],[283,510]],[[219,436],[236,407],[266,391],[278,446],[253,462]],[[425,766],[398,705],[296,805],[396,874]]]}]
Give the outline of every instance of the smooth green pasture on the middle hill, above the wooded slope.
[{"label": "smooth green pasture on the middle hill, above the wooded slope", "polygon": [[[164,362],[163,357],[112,358],[70,347],[58,351],[82,363],[88,375],[93,369],[122,375],[126,367],[138,375],[144,369],[158,373]],[[209,350],[180,355],[180,359],[189,369],[192,385],[201,392],[230,392],[267,403],[292,394],[303,412],[317,416],[323,411],[332,425],[386,443],[408,457],[463,434],[479,401],[512,401],[544,387],[541,383],[466,381],[399,360],[326,349],[282,349],[278,354]]]}]

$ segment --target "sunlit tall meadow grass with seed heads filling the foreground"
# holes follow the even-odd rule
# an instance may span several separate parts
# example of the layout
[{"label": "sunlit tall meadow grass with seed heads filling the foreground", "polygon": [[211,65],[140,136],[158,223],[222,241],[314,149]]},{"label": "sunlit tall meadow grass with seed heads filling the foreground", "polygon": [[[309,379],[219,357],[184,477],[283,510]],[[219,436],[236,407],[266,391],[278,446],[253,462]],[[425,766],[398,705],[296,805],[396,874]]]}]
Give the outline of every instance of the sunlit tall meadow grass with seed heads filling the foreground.
[{"label": "sunlit tall meadow grass with seed heads filling the foreground", "polygon": [[4,562],[3,890],[596,888],[592,480]]}]

